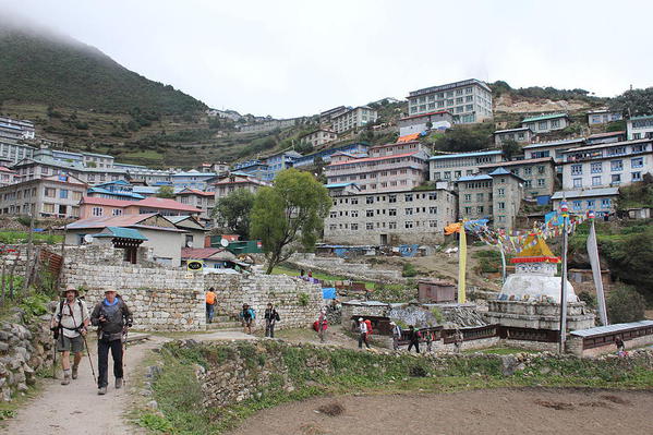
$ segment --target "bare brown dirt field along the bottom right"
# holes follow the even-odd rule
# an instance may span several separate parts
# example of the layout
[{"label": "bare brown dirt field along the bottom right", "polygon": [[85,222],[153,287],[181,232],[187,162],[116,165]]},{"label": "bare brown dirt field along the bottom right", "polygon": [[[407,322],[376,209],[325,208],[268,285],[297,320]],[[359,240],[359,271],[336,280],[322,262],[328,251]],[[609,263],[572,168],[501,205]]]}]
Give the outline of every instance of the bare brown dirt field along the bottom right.
[{"label": "bare brown dirt field along the bottom right", "polygon": [[[338,407],[341,407],[340,413]],[[321,409],[323,412],[316,412]],[[498,389],[443,395],[344,396],[293,402],[258,412],[231,435],[638,435],[653,433],[651,409],[651,391]]]}]

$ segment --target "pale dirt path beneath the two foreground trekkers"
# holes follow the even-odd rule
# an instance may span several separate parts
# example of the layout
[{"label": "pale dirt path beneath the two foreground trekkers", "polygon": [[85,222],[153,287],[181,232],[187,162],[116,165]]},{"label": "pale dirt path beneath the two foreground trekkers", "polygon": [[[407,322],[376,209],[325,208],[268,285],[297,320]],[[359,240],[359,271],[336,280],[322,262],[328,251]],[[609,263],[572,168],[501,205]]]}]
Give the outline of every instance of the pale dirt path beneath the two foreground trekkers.
[{"label": "pale dirt path beneath the two foreground trekkers", "polygon": [[[189,335],[204,340],[246,340],[252,336],[235,331]],[[142,398],[136,389],[136,374],[147,353],[165,341],[166,337],[150,336],[148,340],[130,345],[126,353],[125,386],[114,389],[112,360],[109,358],[109,387],[106,396],[97,395],[88,358],[80,364],[80,377],[63,386],[60,379],[45,379],[43,392],[21,408],[15,419],[9,420],[7,430],[12,435],[122,435],[142,434],[138,427],[126,421],[125,412]],[[97,345],[89,342],[93,365],[97,374]],[[61,370],[59,368],[61,377]]]}]

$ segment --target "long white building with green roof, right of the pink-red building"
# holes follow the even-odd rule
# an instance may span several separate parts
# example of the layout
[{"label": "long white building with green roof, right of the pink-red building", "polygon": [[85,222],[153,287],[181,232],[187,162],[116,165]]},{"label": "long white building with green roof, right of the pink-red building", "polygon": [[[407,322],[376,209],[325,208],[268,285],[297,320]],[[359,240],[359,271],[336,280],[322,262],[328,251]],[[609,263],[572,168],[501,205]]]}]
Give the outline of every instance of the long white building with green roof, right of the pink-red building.
[{"label": "long white building with green roof, right of the pink-red building", "polygon": [[428,159],[430,180],[457,181],[460,177],[477,173],[480,166],[500,161],[504,161],[504,154],[498,149],[432,156]]}]

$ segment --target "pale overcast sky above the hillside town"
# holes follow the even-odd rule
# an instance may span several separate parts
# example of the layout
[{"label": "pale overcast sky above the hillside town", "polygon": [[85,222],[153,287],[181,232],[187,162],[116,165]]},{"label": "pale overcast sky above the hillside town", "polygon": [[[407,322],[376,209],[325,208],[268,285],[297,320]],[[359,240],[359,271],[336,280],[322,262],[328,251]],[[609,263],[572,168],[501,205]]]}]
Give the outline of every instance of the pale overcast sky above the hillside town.
[{"label": "pale overcast sky above the hillside town", "polygon": [[458,80],[653,86],[653,2],[0,0],[209,107],[276,118]]}]

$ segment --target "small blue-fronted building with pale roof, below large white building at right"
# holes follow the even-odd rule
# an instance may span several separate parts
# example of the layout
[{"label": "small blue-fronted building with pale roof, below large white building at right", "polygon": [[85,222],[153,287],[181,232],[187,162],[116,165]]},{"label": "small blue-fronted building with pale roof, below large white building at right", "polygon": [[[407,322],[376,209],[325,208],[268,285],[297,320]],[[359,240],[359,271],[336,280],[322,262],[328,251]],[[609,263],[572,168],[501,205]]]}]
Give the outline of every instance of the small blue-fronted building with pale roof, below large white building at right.
[{"label": "small blue-fronted building with pale roof, below large white building at right", "polygon": [[615,203],[619,197],[619,188],[600,188],[573,191],[560,191],[553,194],[553,209],[560,209],[560,202],[567,201],[569,212],[584,215],[593,210],[596,217],[604,217],[615,212]]}]

